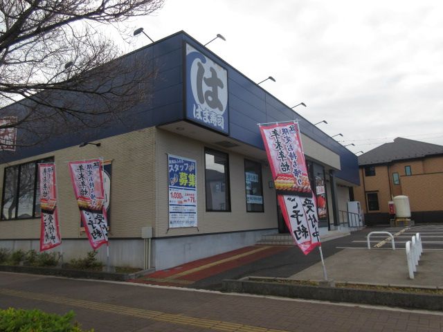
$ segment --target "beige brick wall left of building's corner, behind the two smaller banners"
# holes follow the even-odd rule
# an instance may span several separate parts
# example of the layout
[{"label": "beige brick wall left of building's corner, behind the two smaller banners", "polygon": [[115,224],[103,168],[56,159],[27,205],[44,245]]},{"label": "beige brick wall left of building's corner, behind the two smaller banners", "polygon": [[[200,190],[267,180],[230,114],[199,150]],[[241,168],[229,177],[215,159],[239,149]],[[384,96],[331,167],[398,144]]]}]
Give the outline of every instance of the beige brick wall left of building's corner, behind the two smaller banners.
[{"label": "beige brick wall left of building's corner, behind the two smaller banners", "polygon": [[[80,213],[73,194],[68,161],[89,158],[112,160],[110,237],[141,237],[141,227],[155,219],[155,128],[100,140],[101,146],[69,147],[0,165],[4,167],[53,156],[57,172],[58,214],[63,238],[80,235]],[[1,181],[3,186],[3,181]],[[0,222],[0,239],[38,239],[40,219]]]}]

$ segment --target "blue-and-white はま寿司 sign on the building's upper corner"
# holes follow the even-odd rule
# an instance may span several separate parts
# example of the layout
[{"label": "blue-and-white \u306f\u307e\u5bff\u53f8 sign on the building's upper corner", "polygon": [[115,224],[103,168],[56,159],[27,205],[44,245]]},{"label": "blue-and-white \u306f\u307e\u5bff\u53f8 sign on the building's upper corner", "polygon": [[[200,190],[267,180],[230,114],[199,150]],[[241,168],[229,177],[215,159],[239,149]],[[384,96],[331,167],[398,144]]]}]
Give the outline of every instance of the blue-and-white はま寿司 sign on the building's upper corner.
[{"label": "blue-and-white \u306f\u307e\u5bff\u53f8 sign on the building's upper corner", "polygon": [[228,71],[188,44],[186,118],[229,133]]}]

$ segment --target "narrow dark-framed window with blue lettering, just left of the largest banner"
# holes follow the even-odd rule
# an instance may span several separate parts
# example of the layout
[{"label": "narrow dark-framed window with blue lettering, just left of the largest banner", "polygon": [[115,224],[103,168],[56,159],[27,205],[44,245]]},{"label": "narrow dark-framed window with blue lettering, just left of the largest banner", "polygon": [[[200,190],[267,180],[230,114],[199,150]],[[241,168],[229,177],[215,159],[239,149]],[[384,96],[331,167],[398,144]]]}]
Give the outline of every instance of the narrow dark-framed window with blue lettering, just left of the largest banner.
[{"label": "narrow dark-framed window with blue lettering, just left of the largest banner", "polygon": [[246,212],[264,212],[262,165],[245,159],[244,179],[246,185]]}]

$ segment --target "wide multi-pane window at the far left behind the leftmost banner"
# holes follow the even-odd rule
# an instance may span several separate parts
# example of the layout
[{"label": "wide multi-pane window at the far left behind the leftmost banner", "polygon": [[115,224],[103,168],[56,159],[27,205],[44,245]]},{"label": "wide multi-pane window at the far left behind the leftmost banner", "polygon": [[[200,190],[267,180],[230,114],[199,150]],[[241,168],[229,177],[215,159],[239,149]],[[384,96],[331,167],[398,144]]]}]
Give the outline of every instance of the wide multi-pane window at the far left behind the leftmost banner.
[{"label": "wide multi-pane window at the far left behind the leftmost banner", "polygon": [[53,163],[53,161],[53,158],[47,158],[5,168],[1,220],[40,216],[37,164]]}]

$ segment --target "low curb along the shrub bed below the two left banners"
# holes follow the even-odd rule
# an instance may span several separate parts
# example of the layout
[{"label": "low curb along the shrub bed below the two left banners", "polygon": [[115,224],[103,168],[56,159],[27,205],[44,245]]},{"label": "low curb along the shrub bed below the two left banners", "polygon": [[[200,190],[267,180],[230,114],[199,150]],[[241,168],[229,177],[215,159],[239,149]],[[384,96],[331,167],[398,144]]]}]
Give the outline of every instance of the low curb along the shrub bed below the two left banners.
[{"label": "low curb along the shrub bed below the two left banners", "polygon": [[114,282],[126,282],[129,279],[136,279],[154,272],[154,269],[143,270],[137,273],[109,273],[102,271],[83,271],[83,270],[69,270],[63,268],[43,268],[39,266],[0,266],[1,272],[15,272],[15,273],[30,273],[34,275],[55,275],[58,277],[69,277],[77,279],[99,279],[111,280]]}]

